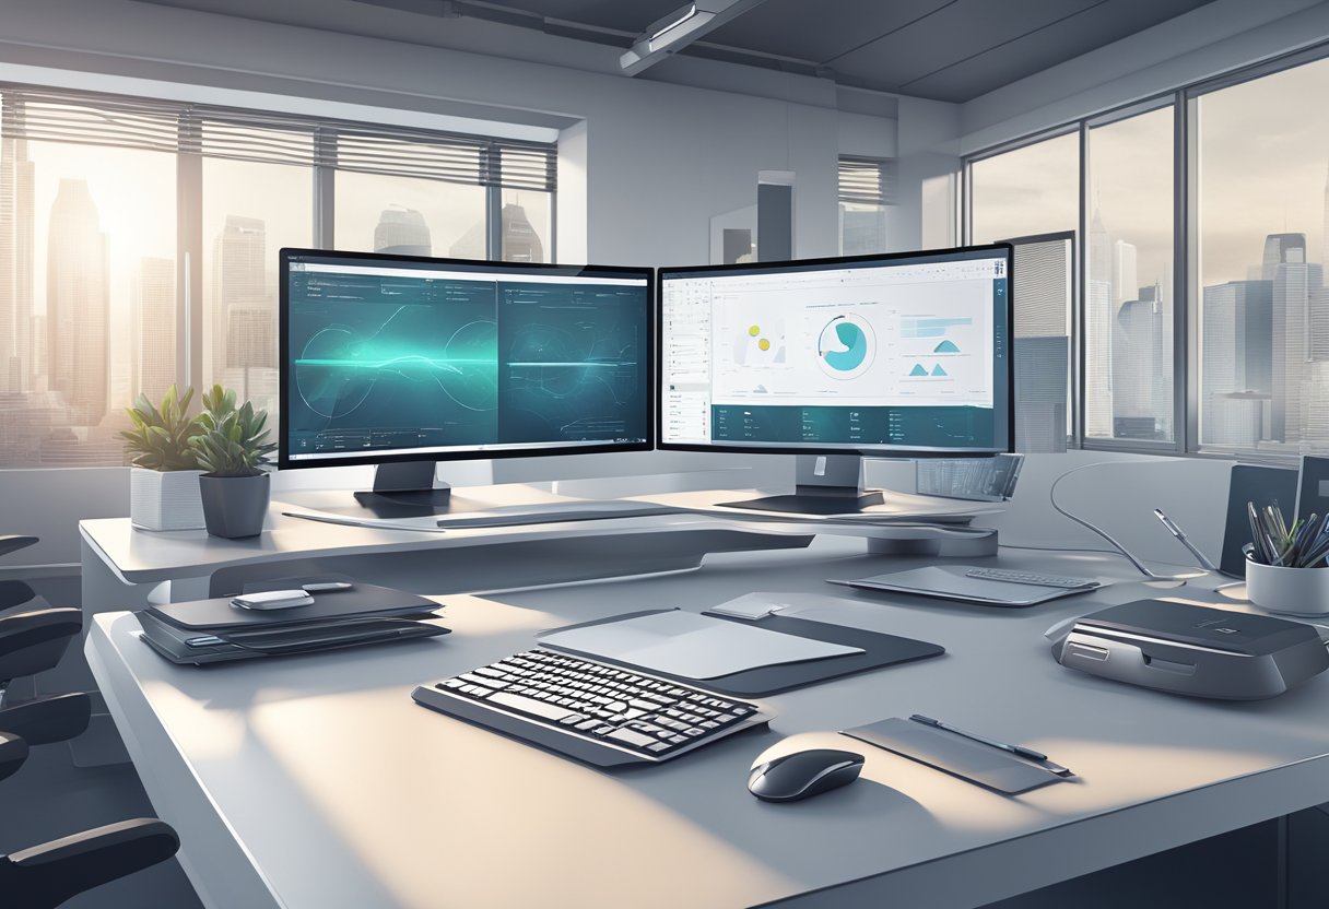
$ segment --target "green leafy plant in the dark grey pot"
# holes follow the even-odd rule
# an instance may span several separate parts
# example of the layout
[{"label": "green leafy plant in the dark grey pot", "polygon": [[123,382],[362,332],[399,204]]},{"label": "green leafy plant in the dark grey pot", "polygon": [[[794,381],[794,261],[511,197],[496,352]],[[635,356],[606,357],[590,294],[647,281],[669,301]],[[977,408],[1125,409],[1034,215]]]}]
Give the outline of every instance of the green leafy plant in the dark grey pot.
[{"label": "green leafy plant in the dark grey pot", "polygon": [[213,385],[203,395],[202,432],[190,439],[205,473],[198,478],[203,521],[214,537],[254,537],[263,532],[270,498],[270,477],[263,470],[276,448],[267,441],[267,411],[245,401],[235,407],[235,391]]}]

